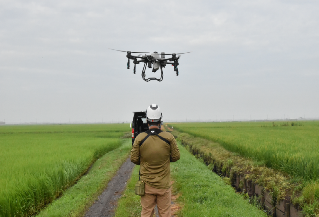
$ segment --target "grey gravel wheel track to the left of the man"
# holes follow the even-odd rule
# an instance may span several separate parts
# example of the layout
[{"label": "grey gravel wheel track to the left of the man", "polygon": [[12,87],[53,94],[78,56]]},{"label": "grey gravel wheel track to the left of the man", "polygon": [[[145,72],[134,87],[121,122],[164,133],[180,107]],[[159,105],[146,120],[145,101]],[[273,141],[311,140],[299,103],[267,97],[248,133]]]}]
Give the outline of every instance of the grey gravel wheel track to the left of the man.
[{"label": "grey gravel wheel track to the left of the man", "polygon": [[126,187],[127,180],[130,178],[134,166],[135,164],[130,161],[130,158],[122,164],[116,175],[108,183],[108,187],[99,196],[99,200],[95,201],[85,213],[85,217],[113,216],[117,200],[122,196],[122,191]]}]

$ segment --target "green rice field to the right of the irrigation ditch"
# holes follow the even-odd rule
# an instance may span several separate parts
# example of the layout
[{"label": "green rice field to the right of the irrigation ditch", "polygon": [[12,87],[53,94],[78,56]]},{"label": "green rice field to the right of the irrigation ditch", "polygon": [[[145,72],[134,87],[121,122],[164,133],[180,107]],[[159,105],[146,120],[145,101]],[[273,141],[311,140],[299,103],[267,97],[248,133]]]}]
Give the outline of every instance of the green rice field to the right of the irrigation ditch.
[{"label": "green rice field to the right of the irrigation ditch", "polygon": [[[174,129],[218,142],[268,167],[305,180],[319,178],[319,122],[302,126],[260,127],[260,122],[174,123]],[[266,126],[272,123],[264,123]]]}]

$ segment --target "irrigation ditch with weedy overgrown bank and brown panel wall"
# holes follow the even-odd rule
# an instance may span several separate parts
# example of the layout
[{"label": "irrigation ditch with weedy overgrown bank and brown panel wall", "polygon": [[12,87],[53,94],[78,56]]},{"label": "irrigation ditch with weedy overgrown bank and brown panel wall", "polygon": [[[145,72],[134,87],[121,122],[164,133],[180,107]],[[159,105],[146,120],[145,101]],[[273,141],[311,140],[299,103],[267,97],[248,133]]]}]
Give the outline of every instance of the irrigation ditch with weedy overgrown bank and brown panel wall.
[{"label": "irrigation ditch with weedy overgrown bank and brown panel wall", "polygon": [[249,159],[231,153],[219,144],[204,138],[195,138],[167,127],[190,153],[241,193],[252,204],[273,217],[304,217],[301,207],[293,203],[297,183],[289,181],[287,174],[266,168]]}]

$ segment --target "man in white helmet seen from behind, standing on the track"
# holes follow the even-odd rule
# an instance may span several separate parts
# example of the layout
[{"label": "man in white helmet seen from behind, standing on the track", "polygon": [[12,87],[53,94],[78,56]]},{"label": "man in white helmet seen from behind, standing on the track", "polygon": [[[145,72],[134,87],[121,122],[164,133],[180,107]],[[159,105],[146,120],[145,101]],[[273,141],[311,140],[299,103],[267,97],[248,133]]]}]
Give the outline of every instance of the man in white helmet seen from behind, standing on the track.
[{"label": "man in white helmet seen from behind, standing on the track", "polygon": [[156,104],[146,110],[149,130],[140,133],[134,141],[131,161],[140,165],[140,180],[145,182],[141,196],[141,217],[153,217],[157,204],[160,217],[171,217],[170,162],[180,159],[175,138],[161,131],[162,113]]}]

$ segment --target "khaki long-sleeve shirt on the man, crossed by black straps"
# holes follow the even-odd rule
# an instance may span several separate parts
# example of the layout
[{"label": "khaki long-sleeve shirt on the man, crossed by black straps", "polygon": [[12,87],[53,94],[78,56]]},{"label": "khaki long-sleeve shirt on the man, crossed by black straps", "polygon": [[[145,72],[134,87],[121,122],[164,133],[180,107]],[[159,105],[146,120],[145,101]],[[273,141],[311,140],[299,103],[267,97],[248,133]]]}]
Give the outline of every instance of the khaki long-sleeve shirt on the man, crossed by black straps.
[{"label": "khaki long-sleeve shirt on the man, crossed by black straps", "polygon": [[[140,146],[141,141],[150,133],[155,131],[157,135],[150,135]],[[131,161],[141,165],[141,180],[147,185],[167,189],[170,187],[170,162],[180,159],[180,152],[174,136],[159,129],[151,129],[140,133],[134,141],[131,150]]]}]

